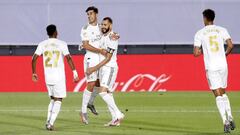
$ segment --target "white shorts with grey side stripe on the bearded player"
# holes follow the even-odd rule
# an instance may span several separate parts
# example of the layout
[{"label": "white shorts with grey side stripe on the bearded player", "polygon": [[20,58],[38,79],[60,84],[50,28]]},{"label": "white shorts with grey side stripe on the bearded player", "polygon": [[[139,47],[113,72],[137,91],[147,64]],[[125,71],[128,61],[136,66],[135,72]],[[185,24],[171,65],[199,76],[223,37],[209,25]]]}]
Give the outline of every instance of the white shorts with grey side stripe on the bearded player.
[{"label": "white shorts with grey side stripe on the bearded player", "polygon": [[103,66],[99,71],[100,86],[108,88],[108,91],[113,92],[113,86],[117,79],[118,67]]}]

